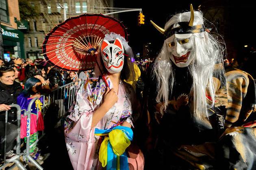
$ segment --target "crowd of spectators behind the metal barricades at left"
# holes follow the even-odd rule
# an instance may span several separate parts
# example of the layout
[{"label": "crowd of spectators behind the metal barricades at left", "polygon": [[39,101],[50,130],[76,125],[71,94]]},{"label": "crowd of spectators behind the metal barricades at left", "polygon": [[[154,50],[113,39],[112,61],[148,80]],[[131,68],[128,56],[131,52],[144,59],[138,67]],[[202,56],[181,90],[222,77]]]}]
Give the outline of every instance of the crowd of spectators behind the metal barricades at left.
[{"label": "crowd of spectators behind the metal barricades at left", "polygon": [[[90,71],[80,72],[81,79],[85,80],[90,77]],[[24,110],[28,109],[29,102],[37,97],[38,100],[33,103],[32,108],[36,105],[42,105],[43,97],[41,95],[49,94],[54,89],[65,84],[78,81],[77,72],[66,72],[59,68],[54,68],[43,59],[35,61],[31,59],[23,60],[21,58],[12,58],[9,62],[0,60],[0,138],[1,138],[1,157],[4,154],[4,121],[5,111],[8,110],[8,147],[6,150],[6,159],[15,158],[13,148],[15,146],[15,137],[17,136],[17,115],[16,108],[12,108],[11,104],[20,105],[22,111],[20,138],[26,142],[26,120]],[[30,144],[37,139],[38,131],[44,130],[43,115],[41,109],[31,111],[31,127],[30,127]],[[37,118],[38,117],[38,118]],[[38,122],[38,123],[37,123]],[[10,134],[10,133],[8,133]],[[10,139],[10,140],[9,140]],[[23,141],[23,140],[22,140]],[[30,149],[30,154],[40,164],[43,163],[39,155],[37,145]]]}]

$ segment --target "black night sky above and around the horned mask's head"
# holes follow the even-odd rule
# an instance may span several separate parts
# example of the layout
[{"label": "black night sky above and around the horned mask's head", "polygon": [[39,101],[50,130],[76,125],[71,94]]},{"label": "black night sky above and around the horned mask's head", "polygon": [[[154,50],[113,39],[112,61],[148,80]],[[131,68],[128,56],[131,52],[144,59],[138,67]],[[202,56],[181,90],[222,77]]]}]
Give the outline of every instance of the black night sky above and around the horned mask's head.
[{"label": "black night sky above and around the horned mask's head", "polygon": [[[168,4],[165,4],[167,2]],[[242,3],[243,2],[243,3]],[[165,23],[172,15],[189,11],[189,4],[193,4],[194,10],[203,4],[202,11],[208,5],[223,6],[228,11],[228,21],[226,21],[224,37],[229,44],[230,50],[236,49],[237,55],[244,52],[244,45],[249,48],[255,47],[256,41],[256,6],[249,0],[234,2],[233,0],[172,0],[172,1],[149,1],[149,0],[115,0],[115,7],[119,8],[142,8],[145,15],[145,25],[137,26],[137,16],[139,11],[119,13],[119,20],[123,21],[128,28],[128,41],[135,53],[143,51],[143,43],[152,43],[154,53],[160,51],[164,37],[150,23],[154,21],[158,26],[164,27]],[[226,12],[225,11],[225,12]],[[226,19],[226,16],[225,18]],[[229,48],[229,47],[227,47]],[[247,48],[247,49],[249,49]]]}]

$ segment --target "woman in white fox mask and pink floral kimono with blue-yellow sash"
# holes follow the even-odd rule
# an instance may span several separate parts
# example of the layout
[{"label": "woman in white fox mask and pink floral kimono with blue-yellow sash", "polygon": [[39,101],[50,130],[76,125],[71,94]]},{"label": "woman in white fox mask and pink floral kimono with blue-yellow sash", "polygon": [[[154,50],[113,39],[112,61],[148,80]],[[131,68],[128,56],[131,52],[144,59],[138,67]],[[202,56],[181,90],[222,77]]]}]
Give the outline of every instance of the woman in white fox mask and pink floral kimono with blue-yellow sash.
[{"label": "woman in white fox mask and pink floral kimono with blue-yellow sash", "polygon": [[[130,57],[133,57],[132,49],[123,37],[112,32],[106,34],[101,53],[97,56],[102,68],[95,68],[94,77],[78,85],[76,102],[69,109],[64,131],[74,170],[102,169],[105,166],[115,169],[118,163],[120,169],[128,169],[128,161],[129,166],[134,166],[132,168],[143,168],[143,162],[132,164],[125,152],[132,140],[131,126],[136,118],[132,115],[132,108],[138,105],[134,103],[132,87],[124,82],[134,75]],[[99,72],[103,68],[104,71]],[[106,137],[101,143],[99,136],[102,135]],[[106,149],[108,146],[115,150],[114,143],[118,143],[122,151],[114,154],[112,149]]]}]

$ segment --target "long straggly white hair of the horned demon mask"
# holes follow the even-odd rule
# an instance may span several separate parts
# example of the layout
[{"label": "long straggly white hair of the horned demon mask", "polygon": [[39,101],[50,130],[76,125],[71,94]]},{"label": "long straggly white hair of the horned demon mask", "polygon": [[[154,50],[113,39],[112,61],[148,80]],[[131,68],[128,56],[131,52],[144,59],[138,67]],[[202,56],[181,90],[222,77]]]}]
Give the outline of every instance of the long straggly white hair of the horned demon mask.
[{"label": "long straggly white hair of the horned demon mask", "polygon": [[[190,15],[190,12],[174,15],[165,24],[165,30],[170,26],[176,27],[178,22],[188,22]],[[204,18],[200,11],[194,11],[194,16],[193,26],[204,24]],[[216,76],[215,74],[217,73],[219,74],[218,77],[224,78],[222,62],[225,47],[221,45],[217,38],[206,31],[194,33],[191,40],[193,47],[190,57],[193,57],[193,60],[188,66],[189,72],[193,78],[191,94],[193,94],[194,104],[193,110],[191,111],[193,111],[195,118],[202,119],[208,117],[207,108],[213,107],[215,104],[213,76]],[[161,52],[158,57],[156,57],[154,63],[154,76],[156,76],[158,89],[156,101],[163,102],[165,109],[167,108],[169,94],[171,95],[175,81],[173,63],[170,60],[170,54],[168,54],[167,48],[167,44],[164,42]],[[215,64],[218,64],[219,68],[216,69]],[[210,104],[208,104],[206,100],[206,91],[212,98]]]}]

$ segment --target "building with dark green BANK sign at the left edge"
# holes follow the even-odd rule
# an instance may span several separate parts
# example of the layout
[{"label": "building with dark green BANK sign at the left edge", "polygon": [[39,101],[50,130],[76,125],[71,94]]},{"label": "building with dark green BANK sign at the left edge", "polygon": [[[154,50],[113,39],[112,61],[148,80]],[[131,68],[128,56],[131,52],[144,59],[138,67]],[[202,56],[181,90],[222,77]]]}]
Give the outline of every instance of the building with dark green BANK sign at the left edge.
[{"label": "building with dark green BANK sign at the left edge", "polygon": [[11,57],[24,58],[24,34],[18,30],[17,26],[17,21],[20,21],[18,0],[0,0],[0,19],[1,57],[7,60]]}]

